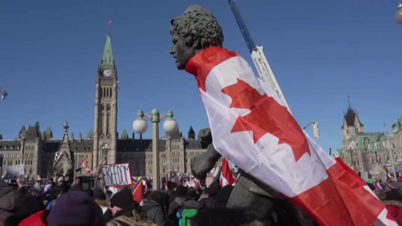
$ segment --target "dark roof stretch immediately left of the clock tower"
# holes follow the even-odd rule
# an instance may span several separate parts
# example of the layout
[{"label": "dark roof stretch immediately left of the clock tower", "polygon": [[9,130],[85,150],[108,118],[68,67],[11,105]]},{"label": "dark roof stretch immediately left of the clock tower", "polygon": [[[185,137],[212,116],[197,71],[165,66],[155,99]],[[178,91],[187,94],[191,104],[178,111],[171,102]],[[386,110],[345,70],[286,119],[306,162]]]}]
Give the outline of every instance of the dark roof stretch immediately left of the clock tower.
[{"label": "dark roof stretch immediately left of the clock tower", "polygon": [[[45,152],[56,152],[59,149],[60,144],[63,140],[46,140],[43,145],[43,151]],[[70,141],[70,149],[74,152],[92,152],[94,147],[93,140],[74,140]]]}]

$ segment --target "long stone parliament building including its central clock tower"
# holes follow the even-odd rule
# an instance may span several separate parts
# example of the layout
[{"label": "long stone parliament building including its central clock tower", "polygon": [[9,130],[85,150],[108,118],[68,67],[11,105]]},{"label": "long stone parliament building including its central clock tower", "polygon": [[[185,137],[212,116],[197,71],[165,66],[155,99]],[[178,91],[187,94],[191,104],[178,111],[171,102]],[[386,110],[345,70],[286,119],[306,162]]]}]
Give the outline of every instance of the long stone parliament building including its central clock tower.
[{"label": "long stone parliament building including its central clock tower", "polygon": [[[53,138],[50,127],[41,132],[39,122],[28,129],[22,126],[18,137],[2,140],[3,174],[7,166],[23,164],[29,177],[66,175],[72,168],[73,155],[76,168],[80,160],[87,163],[95,173],[104,163],[129,162],[134,176],[152,176],[152,140],[142,139],[141,134],[129,137],[123,130],[117,132],[117,67],[113,60],[110,35],[107,34],[103,57],[98,66],[95,92],[94,129],[86,137],[68,134],[68,122],[64,125],[62,139]],[[188,137],[183,138],[176,130],[159,139],[160,175],[170,172],[191,173],[190,160],[206,151],[195,139],[190,127]],[[81,171],[85,175],[85,170]]]}]

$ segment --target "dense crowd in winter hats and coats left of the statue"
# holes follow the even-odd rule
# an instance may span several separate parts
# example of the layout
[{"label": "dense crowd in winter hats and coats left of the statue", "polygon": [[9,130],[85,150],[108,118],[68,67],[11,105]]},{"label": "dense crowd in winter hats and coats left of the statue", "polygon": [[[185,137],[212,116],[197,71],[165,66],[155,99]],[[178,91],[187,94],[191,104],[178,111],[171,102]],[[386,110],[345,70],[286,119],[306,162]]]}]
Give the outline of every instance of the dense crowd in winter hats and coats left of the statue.
[{"label": "dense crowd in winter hats and coats left of the statue", "polygon": [[144,190],[141,204],[132,190],[82,189],[62,176],[30,188],[17,179],[0,191],[0,226],[214,226],[265,225],[252,211],[228,209],[233,186],[185,187],[169,181],[169,190]]}]

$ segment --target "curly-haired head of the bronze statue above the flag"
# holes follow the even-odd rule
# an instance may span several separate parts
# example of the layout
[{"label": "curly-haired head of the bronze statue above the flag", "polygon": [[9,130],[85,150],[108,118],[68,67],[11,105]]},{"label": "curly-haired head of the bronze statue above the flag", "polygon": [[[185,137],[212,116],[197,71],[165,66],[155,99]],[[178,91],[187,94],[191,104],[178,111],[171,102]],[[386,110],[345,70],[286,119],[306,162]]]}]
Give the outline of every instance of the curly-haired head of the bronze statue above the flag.
[{"label": "curly-haired head of the bronze statue above the flag", "polygon": [[185,69],[191,57],[203,49],[212,46],[222,47],[224,41],[222,28],[212,13],[202,6],[191,5],[170,22],[173,42],[170,54],[176,59],[179,70]]}]

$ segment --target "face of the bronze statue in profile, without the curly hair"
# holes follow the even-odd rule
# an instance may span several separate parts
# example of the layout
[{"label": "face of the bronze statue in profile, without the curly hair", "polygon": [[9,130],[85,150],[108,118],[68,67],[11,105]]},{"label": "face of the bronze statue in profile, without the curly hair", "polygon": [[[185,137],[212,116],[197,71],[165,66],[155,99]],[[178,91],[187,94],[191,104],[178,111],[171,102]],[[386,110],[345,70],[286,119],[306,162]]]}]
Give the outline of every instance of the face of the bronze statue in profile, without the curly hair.
[{"label": "face of the bronze statue in profile, without the curly hair", "polygon": [[176,67],[179,70],[184,70],[186,68],[187,62],[191,57],[195,56],[197,51],[193,47],[187,47],[186,43],[183,42],[181,37],[173,33],[172,35],[173,46],[170,49],[170,54],[176,59]]}]

